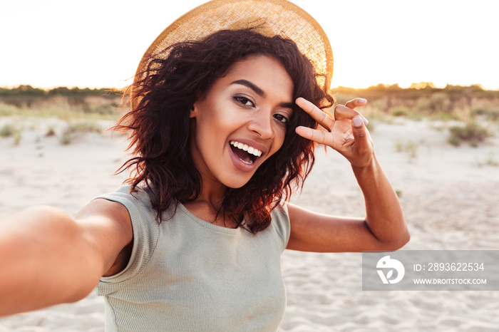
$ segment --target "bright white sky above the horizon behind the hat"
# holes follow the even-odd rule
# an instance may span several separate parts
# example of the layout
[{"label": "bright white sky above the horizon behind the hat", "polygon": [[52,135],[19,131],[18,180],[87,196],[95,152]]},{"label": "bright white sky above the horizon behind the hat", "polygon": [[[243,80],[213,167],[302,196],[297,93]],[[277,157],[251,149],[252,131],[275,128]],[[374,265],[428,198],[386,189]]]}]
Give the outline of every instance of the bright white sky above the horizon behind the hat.
[{"label": "bright white sky above the horizon behind the hat", "polygon": [[[0,86],[123,87],[163,28],[203,2],[2,1]],[[424,81],[499,89],[499,1],[292,2],[329,36],[333,87]]]}]

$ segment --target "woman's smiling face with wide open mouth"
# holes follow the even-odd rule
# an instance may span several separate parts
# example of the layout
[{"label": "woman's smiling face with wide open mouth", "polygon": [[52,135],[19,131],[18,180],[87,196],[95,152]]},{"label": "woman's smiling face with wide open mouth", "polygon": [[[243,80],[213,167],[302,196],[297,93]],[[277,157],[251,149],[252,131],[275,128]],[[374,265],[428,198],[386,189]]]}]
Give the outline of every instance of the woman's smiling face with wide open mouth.
[{"label": "woman's smiling face with wide open mouth", "polygon": [[205,188],[245,185],[284,142],[294,105],[293,83],[269,56],[249,56],[194,103],[191,152]]}]

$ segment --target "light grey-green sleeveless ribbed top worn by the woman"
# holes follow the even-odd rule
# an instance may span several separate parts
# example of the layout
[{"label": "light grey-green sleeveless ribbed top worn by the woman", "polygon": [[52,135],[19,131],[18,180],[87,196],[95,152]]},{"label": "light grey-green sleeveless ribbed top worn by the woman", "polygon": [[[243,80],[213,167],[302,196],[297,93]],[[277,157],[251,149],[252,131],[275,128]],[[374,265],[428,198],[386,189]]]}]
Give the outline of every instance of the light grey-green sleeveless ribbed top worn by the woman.
[{"label": "light grey-green sleeveless ribbed top worn by the woman", "polygon": [[97,286],[106,331],[277,330],[286,305],[285,205],[274,209],[267,229],[252,234],[205,222],[182,204],[158,224],[145,191],[130,194],[129,186],[97,198],[123,204],[133,227],[128,265]]}]

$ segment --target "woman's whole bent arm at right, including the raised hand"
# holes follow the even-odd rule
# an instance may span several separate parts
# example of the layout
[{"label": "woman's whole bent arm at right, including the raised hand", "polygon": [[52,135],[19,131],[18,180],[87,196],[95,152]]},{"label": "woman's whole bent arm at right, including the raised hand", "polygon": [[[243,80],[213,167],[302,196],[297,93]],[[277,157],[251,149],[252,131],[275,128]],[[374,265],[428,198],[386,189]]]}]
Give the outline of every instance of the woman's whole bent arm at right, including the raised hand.
[{"label": "woman's whole bent arm at right, including the raised hand", "polygon": [[291,236],[288,249],[301,251],[395,250],[409,239],[398,197],[376,160],[365,119],[354,108],[366,100],[338,105],[334,118],[303,98],[297,105],[325,130],[299,127],[297,134],[328,145],[351,163],[366,204],[363,219],[317,214],[289,204]]}]

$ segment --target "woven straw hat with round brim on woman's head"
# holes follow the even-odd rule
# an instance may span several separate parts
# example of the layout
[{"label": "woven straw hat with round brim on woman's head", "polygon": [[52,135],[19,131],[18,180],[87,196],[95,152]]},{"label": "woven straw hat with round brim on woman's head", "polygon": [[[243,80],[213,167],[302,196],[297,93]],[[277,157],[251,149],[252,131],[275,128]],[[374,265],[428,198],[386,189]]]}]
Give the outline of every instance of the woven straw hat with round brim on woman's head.
[{"label": "woven straw hat with round brim on woman's head", "polygon": [[286,0],[213,0],[180,16],[165,28],[145,51],[135,81],[152,56],[165,57],[165,48],[180,41],[195,41],[216,31],[255,28],[265,36],[292,39],[312,62],[321,87],[329,88],[333,74],[331,45],[317,21],[299,6]]}]

